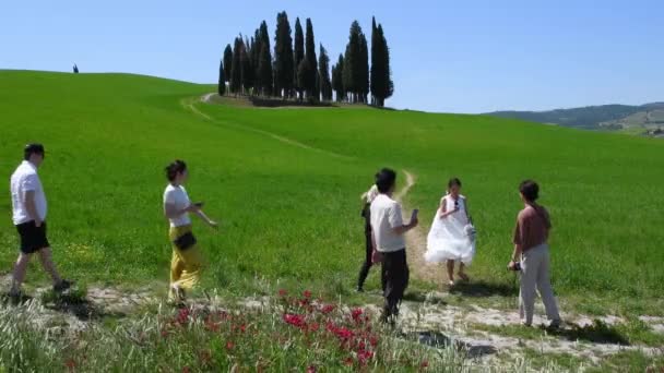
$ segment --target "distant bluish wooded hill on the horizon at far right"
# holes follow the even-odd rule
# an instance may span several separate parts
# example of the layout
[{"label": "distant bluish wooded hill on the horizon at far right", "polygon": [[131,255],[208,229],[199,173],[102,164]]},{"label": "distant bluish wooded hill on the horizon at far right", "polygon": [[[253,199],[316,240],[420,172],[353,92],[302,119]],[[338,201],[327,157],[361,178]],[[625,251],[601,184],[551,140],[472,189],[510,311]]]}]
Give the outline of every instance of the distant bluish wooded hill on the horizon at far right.
[{"label": "distant bluish wooded hill on the horizon at far right", "polygon": [[664,128],[664,103],[586,106],[548,111],[494,111],[486,115],[588,130],[641,129],[645,132]]}]

